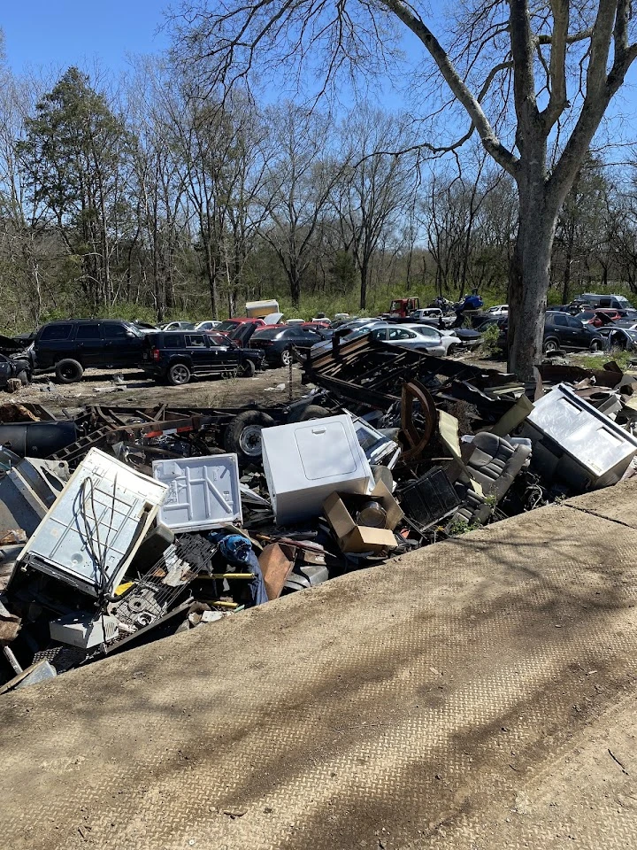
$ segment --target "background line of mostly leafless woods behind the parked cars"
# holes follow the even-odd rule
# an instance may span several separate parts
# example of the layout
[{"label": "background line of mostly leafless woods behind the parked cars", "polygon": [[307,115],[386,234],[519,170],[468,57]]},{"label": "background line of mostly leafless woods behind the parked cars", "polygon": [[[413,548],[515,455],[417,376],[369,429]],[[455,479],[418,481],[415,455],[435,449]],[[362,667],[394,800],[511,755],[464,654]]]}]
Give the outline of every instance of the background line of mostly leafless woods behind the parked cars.
[{"label": "background line of mostly leafless woods behind the parked cars", "polygon": [[[505,297],[518,196],[479,144],[426,159],[401,114],[215,97],[161,59],[118,86],[76,67],[0,78],[8,327],[221,317],[253,298],[331,312],[406,293]],[[593,156],[580,166],[556,226],[554,299],[597,282],[637,290],[631,174]]]}]

